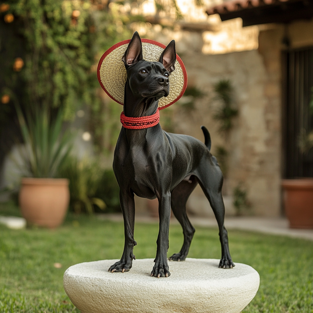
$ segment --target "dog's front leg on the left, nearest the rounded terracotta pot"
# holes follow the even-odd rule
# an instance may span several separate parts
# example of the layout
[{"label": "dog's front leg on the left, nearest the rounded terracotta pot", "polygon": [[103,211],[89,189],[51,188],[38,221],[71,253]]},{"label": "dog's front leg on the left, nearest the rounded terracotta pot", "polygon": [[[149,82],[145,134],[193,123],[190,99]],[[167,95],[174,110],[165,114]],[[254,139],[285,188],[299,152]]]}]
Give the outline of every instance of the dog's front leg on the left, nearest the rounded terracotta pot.
[{"label": "dog's front leg on the left, nearest the rounded terracotta pot", "polygon": [[127,272],[131,269],[133,259],[134,246],[136,241],[134,240],[134,224],[135,224],[135,201],[134,193],[130,190],[122,192],[120,190],[120,203],[124,217],[124,233],[125,233],[125,245],[124,252],[121,260],[113,264],[110,268],[110,272]]}]

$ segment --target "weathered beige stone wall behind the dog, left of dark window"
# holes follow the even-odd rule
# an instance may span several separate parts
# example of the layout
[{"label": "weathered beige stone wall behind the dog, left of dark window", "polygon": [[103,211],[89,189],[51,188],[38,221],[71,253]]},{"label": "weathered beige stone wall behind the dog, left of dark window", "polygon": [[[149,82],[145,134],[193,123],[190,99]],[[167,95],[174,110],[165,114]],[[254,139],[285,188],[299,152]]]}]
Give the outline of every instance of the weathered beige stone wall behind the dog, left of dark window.
[{"label": "weathered beige stone wall behind the dog, left of dark window", "polygon": [[[178,102],[161,111],[172,112],[172,129],[177,133],[204,140],[201,125],[207,126],[212,138],[212,153],[224,145],[213,119],[217,103],[213,101],[213,85],[229,79],[233,85],[239,115],[234,120],[228,146],[228,177],[223,194],[226,213],[233,215],[233,189],[242,183],[251,203],[251,213],[259,216],[280,215],[280,42],[281,27],[261,30],[259,49],[228,54],[205,55],[201,51],[202,36],[185,32],[176,36],[177,53],[188,74],[188,86],[195,86],[205,96],[196,100],[193,110],[183,109]],[[161,36],[160,36],[161,37]],[[163,35],[156,40],[166,42]],[[169,38],[168,38],[169,39]],[[188,200],[188,210],[203,216],[212,210],[198,186]],[[249,212],[247,212],[249,214]]]}]

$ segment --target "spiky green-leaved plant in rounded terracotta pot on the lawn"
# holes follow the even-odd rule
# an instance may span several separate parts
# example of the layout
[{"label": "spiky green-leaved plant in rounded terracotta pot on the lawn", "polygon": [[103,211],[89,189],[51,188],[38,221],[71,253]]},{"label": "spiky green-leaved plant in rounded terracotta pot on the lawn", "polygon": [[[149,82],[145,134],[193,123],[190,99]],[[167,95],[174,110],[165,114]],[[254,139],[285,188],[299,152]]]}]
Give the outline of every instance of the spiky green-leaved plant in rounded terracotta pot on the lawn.
[{"label": "spiky green-leaved plant in rounded terracotta pot on the lawn", "polygon": [[24,140],[21,155],[24,178],[19,192],[19,205],[28,224],[54,228],[65,217],[69,205],[69,181],[55,178],[69,154],[70,136],[62,135],[62,111],[54,119],[47,109],[37,110],[25,119],[16,105]]}]

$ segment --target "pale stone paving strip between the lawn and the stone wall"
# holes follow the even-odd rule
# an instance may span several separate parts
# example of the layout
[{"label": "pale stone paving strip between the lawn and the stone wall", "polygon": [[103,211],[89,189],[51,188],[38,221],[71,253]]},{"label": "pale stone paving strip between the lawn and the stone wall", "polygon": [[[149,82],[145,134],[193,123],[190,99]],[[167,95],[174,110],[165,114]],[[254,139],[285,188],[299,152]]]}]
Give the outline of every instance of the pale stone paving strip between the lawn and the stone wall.
[{"label": "pale stone paving strip between the lawn and the stone wall", "polygon": [[[122,214],[99,214],[98,216],[101,219],[109,219],[112,221],[123,220]],[[146,215],[136,215],[136,222],[158,223],[159,219]],[[190,217],[190,222],[194,226],[217,227],[217,222],[214,218]],[[171,223],[178,223],[178,221],[172,216]],[[242,229],[313,240],[313,229],[289,228],[287,218],[263,218],[255,216],[227,217],[225,218],[225,226],[227,229]]]}]

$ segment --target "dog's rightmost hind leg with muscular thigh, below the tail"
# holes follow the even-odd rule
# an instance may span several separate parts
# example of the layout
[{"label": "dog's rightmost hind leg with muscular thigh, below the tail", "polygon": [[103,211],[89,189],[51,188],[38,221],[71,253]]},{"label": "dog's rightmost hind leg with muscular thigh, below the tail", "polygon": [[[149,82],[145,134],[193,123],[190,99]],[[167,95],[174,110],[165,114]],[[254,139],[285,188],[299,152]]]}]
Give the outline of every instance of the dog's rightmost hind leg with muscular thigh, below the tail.
[{"label": "dog's rightmost hind leg with muscular thigh, below the tail", "polygon": [[222,258],[219,267],[224,269],[232,268],[235,264],[233,264],[230,256],[228,234],[224,226],[225,207],[222,197],[223,174],[216,158],[214,156],[211,157],[211,160],[206,160],[200,164],[197,171],[197,178],[204,194],[211,204],[218,223],[219,239],[222,246]]}]

